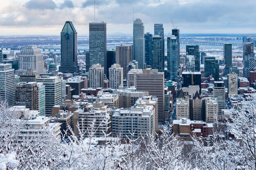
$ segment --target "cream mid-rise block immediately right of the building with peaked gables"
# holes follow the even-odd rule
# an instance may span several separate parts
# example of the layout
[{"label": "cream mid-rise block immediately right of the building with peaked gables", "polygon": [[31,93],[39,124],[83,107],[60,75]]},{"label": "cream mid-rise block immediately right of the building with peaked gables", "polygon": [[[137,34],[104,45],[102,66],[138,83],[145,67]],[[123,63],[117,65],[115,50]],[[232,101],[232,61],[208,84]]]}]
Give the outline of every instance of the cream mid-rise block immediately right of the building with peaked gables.
[{"label": "cream mid-rise block immediately right of the building with peaked gables", "polygon": [[218,102],[208,99],[205,104],[205,114],[207,122],[215,122],[218,119]]}]

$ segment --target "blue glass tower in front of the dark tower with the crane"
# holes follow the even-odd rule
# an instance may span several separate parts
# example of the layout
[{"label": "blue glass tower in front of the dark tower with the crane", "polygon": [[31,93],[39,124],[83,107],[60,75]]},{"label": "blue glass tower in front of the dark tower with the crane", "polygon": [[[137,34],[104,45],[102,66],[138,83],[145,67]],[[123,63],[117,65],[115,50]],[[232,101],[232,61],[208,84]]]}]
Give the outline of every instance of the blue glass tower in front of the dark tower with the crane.
[{"label": "blue glass tower in front of the dark tower with the crane", "polygon": [[179,56],[178,56],[178,40],[172,35],[167,37],[167,71],[168,78],[172,81],[178,81]]}]

